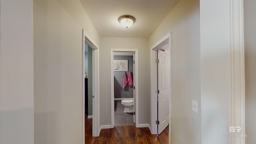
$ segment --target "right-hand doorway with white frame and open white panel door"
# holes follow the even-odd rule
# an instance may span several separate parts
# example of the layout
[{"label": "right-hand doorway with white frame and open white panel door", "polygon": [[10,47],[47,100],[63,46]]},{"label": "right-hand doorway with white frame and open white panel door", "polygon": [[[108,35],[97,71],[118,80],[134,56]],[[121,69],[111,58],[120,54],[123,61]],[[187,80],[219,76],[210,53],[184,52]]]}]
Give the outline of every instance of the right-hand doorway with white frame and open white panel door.
[{"label": "right-hand doorway with white frame and open white panel door", "polygon": [[172,33],[151,47],[151,133],[160,134],[172,127]]}]

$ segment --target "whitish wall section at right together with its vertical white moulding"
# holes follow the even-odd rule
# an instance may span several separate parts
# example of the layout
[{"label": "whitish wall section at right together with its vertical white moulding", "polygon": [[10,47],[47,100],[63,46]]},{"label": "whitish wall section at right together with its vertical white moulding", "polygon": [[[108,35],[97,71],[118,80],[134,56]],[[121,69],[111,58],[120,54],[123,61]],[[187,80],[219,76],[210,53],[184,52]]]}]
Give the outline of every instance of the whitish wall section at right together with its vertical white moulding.
[{"label": "whitish wall section at right together with its vertical white moulding", "polygon": [[202,144],[245,143],[242,4],[200,0]]}]

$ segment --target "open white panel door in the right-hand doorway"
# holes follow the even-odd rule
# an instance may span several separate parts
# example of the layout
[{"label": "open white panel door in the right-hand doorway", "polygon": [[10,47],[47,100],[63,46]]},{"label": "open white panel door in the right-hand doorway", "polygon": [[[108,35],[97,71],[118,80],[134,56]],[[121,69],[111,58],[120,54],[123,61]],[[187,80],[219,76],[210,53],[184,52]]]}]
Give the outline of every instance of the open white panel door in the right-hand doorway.
[{"label": "open white panel door in the right-hand doorway", "polygon": [[170,60],[169,54],[158,50],[158,134],[169,124]]}]

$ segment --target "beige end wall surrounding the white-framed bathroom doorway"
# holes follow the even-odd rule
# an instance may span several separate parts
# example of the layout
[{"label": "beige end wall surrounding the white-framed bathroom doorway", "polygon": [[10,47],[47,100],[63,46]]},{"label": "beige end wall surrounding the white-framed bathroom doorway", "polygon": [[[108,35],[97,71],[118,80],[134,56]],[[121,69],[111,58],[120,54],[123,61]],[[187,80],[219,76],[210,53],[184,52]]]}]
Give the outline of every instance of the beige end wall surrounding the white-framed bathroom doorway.
[{"label": "beige end wall surrounding the white-framed bathroom doorway", "polygon": [[101,38],[100,125],[111,125],[110,49],[138,49],[139,121],[150,124],[150,52],[147,38]]}]

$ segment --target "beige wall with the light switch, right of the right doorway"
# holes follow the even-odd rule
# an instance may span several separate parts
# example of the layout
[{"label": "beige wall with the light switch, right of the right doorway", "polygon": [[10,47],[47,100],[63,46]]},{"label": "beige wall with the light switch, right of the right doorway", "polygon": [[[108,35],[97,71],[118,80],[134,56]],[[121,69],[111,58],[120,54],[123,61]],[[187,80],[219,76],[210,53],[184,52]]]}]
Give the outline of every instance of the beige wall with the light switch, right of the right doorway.
[{"label": "beige wall with the light switch, right of the right doorway", "polygon": [[[201,143],[199,0],[180,0],[149,37],[172,32],[172,144]],[[192,111],[198,101],[198,113]]]}]

